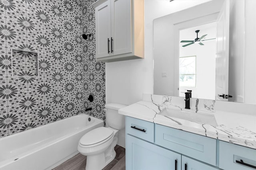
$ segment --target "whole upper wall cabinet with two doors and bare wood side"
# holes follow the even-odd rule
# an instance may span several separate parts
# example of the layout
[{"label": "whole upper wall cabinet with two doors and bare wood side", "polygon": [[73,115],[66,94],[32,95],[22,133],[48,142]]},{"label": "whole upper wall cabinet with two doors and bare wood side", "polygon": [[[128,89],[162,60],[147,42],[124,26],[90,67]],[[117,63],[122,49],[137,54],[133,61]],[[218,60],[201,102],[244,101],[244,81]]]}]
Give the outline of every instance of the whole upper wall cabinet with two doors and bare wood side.
[{"label": "whole upper wall cabinet with two doors and bare wood side", "polygon": [[144,58],[144,0],[98,0],[95,8],[96,60]]}]

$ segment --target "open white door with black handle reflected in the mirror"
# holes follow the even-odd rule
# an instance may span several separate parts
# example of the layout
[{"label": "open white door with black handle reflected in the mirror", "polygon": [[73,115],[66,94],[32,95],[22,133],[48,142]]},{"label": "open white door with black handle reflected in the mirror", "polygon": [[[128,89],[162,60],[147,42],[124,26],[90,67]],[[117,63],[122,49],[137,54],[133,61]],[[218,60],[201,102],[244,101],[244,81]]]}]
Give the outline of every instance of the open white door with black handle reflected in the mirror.
[{"label": "open white door with black handle reflected in the mirror", "polygon": [[[217,19],[215,99],[228,101],[229,0],[225,0]],[[222,96],[224,94],[224,96]]]}]

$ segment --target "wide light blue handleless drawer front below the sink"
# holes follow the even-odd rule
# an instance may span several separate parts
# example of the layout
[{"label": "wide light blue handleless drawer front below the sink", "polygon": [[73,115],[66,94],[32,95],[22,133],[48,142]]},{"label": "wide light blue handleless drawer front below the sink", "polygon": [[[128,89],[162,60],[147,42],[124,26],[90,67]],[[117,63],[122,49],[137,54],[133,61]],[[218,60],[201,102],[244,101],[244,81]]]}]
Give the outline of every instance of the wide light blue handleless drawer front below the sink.
[{"label": "wide light blue handleless drawer front below the sink", "polygon": [[216,166],[216,139],[155,125],[155,143]]}]

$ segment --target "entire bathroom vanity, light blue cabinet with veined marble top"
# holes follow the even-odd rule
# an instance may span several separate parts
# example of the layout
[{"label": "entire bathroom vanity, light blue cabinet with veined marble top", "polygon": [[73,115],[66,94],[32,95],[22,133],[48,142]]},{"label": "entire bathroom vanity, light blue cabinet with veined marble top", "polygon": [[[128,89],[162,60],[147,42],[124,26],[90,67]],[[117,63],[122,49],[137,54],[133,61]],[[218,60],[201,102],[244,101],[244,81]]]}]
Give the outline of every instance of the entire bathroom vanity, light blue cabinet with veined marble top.
[{"label": "entire bathroom vanity, light blue cabinet with veined marble top", "polygon": [[[126,115],[127,170],[256,169],[256,115],[232,113],[234,120],[226,119],[230,112],[216,111],[211,107],[204,110],[199,101],[196,114],[198,117],[203,115],[203,118],[194,121],[187,116],[182,119],[163,112],[168,108],[172,113],[193,115],[194,110],[182,109],[174,102],[175,97],[171,98],[151,95],[119,110],[120,114]],[[210,102],[201,101],[204,108],[210,106]],[[255,109],[255,105],[252,107]],[[211,115],[214,115],[214,120]],[[236,123],[237,119],[243,121],[242,117],[250,118],[244,122],[244,127],[243,123],[237,124],[237,128],[228,123]],[[226,125],[223,121],[227,122]]]}]

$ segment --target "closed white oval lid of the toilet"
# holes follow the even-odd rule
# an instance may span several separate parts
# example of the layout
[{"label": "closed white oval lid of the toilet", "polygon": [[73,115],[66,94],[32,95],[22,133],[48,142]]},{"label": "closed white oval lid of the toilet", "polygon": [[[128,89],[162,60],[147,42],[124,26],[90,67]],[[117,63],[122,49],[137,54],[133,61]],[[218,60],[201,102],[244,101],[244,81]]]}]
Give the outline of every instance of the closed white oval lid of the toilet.
[{"label": "closed white oval lid of the toilet", "polygon": [[106,127],[98,127],[87,132],[81,139],[81,145],[94,145],[96,143],[102,143],[102,141],[112,137],[114,131]]}]

